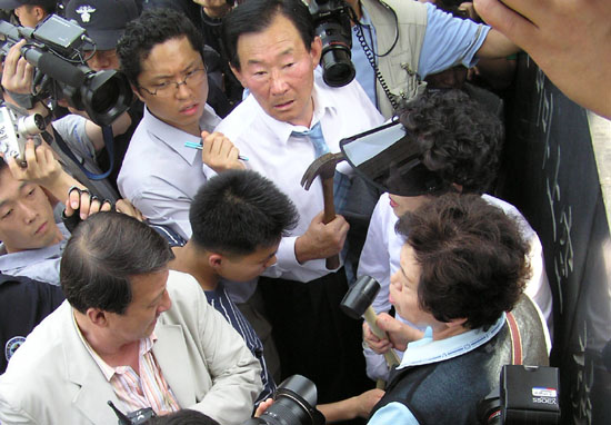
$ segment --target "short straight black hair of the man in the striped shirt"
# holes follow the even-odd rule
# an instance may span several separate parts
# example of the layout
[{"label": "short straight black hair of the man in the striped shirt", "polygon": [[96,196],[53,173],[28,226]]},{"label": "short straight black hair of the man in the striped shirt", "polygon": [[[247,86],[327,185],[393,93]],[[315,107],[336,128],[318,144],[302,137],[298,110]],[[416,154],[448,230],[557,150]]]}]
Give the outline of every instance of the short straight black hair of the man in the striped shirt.
[{"label": "short straight black hair of the man in the striped shirt", "polygon": [[298,217],[271,180],[256,171],[229,170],[204,184],[191,202],[191,240],[210,251],[250,255],[280,241]]}]

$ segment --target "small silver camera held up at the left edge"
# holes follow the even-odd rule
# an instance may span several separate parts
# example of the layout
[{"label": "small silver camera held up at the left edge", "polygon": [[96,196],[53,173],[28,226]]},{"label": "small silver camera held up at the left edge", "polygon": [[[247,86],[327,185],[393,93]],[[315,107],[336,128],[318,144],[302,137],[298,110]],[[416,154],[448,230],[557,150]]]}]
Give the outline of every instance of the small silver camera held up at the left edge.
[{"label": "small silver camera held up at the left edge", "polygon": [[20,166],[26,165],[26,141],[33,139],[41,144],[40,134],[44,131],[44,118],[40,113],[22,115],[8,106],[0,107],[0,154],[4,158],[13,157]]}]

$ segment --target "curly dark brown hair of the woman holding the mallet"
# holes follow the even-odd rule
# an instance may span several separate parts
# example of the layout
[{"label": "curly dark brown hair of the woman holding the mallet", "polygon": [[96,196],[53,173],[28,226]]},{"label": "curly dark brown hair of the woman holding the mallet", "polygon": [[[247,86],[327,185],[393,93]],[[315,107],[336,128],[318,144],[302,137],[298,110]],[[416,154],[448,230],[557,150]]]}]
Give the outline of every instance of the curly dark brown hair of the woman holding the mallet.
[{"label": "curly dark brown hair of the woman holding the mallet", "polygon": [[[513,308],[530,267],[517,221],[480,196],[445,194],[397,224],[421,267],[421,308],[487,328]],[[409,235],[409,237],[408,237]]]}]

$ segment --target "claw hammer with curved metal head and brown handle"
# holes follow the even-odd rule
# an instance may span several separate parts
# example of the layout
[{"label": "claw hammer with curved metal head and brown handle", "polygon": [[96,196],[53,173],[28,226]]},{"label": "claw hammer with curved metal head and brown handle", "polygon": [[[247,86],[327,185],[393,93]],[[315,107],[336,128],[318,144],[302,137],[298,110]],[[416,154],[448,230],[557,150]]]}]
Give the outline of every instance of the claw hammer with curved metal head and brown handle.
[{"label": "claw hammer with curved metal head and brown handle", "polygon": [[[310,189],[312,181],[320,176],[322,182],[322,197],[324,201],[324,216],[322,223],[328,224],[335,218],[335,205],[333,204],[333,176],[335,175],[335,166],[338,162],[344,160],[342,152],[338,154],[324,154],[314,159],[310,167],[303,174],[301,178],[301,186],[306,190]],[[327,268],[333,270],[340,266],[339,255],[333,255],[327,258]]]}]

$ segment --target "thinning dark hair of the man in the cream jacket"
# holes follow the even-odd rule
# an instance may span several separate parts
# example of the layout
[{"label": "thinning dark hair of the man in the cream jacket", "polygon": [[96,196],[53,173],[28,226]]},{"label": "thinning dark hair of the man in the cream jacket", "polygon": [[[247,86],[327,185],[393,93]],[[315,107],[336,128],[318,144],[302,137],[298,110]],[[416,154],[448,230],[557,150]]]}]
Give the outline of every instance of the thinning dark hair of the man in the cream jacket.
[{"label": "thinning dark hair of the man in the cream jacket", "polygon": [[66,245],[60,283],[81,313],[123,314],[131,303],[130,278],[163,269],[173,254],[157,231],[124,214],[98,212],[79,224]]}]

